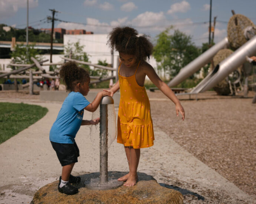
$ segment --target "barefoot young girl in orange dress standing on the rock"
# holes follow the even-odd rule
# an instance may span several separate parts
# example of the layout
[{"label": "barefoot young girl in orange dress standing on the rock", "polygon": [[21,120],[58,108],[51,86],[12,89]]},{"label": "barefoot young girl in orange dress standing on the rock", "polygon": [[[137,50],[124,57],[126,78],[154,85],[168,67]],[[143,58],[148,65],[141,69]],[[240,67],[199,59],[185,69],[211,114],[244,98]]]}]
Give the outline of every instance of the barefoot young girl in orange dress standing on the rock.
[{"label": "barefoot young girl in orange dress standing on the rock", "polygon": [[117,142],[124,144],[129,164],[129,173],[118,181],[126,181],[125,186],[137,182],[137,168],[140,148],[154,145],[154,131],[151,119],[150,102],[145,90],[145,77],[148,78],[175,104],[176,113],[185,118],[184,109],[173,91],[155,73],[145,60],[152,53],[152,44],[145,36],[137,36],[131,27],[116,27],[109,34],[109,45],[119,52],[119,80],[109,92],[111,96],[120,89],[118,111]]}]

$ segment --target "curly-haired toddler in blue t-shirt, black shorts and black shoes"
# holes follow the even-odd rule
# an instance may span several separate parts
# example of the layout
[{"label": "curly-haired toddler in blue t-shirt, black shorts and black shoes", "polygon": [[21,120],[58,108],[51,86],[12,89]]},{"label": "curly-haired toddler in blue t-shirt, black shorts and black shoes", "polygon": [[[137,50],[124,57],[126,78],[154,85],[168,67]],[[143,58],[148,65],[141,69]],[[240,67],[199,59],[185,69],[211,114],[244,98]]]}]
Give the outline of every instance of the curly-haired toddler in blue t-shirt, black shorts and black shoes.
[{"label": "curly-haired toddler in blue t-shirt, black shorts and black shoes", "polygon": [[84,96],[89,92],[90,76],[85,69],[79,68],[75,62],[62,65],[59,75],[70,93],[63,102],[57,119],[52,125],[50,142],[62,165],[58,190],[60,193],[73,195],[78,193],[78,188],[70,185],[70,183],[81,181],[80,177],[71,175],[79,157],[79,149],[75,142],[76,133],[81,125],[96,125],[99,123],[99,118],[90,121],[83,120],[83,109],[90,112],[96,111],[101,98],[110,94],[102,91],[97,94],[92,103],[87,101]]}]

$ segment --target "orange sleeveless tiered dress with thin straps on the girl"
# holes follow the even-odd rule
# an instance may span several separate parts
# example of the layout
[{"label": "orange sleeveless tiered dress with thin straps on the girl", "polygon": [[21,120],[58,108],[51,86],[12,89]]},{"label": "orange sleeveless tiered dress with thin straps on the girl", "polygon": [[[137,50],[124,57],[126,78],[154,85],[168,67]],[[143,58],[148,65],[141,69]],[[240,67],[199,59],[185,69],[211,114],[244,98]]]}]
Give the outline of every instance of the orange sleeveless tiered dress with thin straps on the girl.
[{"label": "orange sleeveless tiered dress with thin straps on the girl", "polygon": [[135,75],[119,74],[120,103],[117,120],[117,142],[134,149],[154,145],[154,130],[150,113],[150,102],[145,86],[138,85]]}]

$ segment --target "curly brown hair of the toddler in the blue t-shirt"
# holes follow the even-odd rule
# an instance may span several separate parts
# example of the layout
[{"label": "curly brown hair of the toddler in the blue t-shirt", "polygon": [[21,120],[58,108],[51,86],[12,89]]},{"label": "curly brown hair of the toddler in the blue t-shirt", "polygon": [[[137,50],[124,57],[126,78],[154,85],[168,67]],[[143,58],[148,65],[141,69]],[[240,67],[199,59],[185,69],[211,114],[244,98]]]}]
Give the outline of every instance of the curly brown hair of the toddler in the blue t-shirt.
[{"label": "curly brown hair of the toddler in the blue t-shirt", "polygon": [[67,91],[74,91],[77,83],[90,82],[89,72],[78,67],[74,61],[63,64],[59,76],[65,82]]}]

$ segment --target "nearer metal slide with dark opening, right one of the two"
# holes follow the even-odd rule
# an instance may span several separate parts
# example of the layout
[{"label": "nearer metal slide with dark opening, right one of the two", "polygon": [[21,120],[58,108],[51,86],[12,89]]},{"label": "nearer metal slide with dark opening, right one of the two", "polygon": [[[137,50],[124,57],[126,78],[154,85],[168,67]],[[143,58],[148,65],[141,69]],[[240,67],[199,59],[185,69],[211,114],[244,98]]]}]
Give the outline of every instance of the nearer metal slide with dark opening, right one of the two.
[{"label": "nearer metal slide with dark opening, right one of the two", "polygon": [[246,62],[246,57],[251,57],[256,53],[256,36],[244,43],[234,53],[220,62],[196,87],[188,94],[196,94],[208,91],[226,76]]}]

